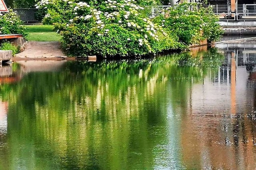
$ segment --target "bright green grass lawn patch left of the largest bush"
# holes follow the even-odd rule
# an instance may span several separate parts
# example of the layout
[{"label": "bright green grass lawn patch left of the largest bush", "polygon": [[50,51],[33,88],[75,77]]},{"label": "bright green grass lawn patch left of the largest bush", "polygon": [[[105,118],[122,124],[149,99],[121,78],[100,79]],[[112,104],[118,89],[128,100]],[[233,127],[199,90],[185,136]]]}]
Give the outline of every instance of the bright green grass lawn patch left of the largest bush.
[{"label": "bright green grass lawn patch left of the largest bush", "polygon": [[28,41],[59,41],[60,35],[53,31],[53,25],[26,25]]}]

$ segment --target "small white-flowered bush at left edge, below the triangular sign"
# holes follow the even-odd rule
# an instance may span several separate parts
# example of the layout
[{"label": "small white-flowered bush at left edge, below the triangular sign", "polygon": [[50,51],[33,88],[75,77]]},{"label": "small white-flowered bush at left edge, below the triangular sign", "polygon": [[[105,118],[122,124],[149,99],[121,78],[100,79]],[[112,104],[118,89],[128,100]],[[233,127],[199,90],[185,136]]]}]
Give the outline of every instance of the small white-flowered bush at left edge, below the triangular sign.
[{"label": "small white-flowered bush at left edge, below the triangular sign", "polygon": [[10,10],[7,13],[0,14],[0,33],[1,34],[22,34],[26,35],[26,27],[22,25],[23,22],[19,19],[15,12]]}]

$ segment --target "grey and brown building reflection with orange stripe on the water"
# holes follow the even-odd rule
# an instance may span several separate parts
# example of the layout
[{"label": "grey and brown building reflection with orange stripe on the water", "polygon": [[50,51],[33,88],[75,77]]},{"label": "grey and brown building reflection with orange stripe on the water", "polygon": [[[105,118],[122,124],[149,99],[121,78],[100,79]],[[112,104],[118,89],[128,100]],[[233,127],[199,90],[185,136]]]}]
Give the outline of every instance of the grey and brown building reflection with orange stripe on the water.
[{"label": "grey and brown building reflection with orange stripe on the water", "polygon": [[224,49],[226,65],[217,72],[209,70],[204,82],[192,84],[188,93],[181,125],[188,169],[256,169],[256,123],[248,118],[255,107],[254,88],[248,86],[249,61],[244,58],[250,49]]}]

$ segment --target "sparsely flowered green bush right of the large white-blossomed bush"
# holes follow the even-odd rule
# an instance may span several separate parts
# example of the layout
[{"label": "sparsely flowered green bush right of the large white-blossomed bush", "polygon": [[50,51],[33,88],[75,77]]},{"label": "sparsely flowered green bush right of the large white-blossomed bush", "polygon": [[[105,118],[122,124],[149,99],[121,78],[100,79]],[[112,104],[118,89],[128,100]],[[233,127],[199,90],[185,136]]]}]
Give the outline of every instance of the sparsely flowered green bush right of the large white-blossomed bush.
[{"label": "sparsely flowered green bush right of the large white-blossomed bush", "polygon": [[207,39],[216,41],[223,34],[219,19],[213,13],[212,7],[204,8],[201,3],[183,2],[174,8],[163,10],[163,13],[154,19],[168,32],[174,33],[186,45],[198,43]]}]

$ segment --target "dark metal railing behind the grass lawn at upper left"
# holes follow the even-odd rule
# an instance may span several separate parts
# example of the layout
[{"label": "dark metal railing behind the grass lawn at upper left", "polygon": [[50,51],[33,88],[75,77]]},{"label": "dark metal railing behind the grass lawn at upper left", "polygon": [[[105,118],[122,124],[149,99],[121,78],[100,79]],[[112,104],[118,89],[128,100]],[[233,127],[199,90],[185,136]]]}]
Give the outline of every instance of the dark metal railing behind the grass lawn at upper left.
[{"label": "dark metal railing behind the grass lawn at upper left", "polygon": [[14,12],[17,12],[17,15],[20,17],[20,20],[28,23],[28,22],[38,22],[36,19],[36,12],[38,9],[28,9],[28,8],[21,8],[21,9],[13,9]]}]

